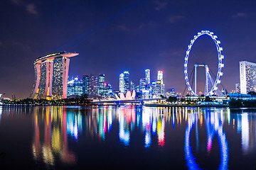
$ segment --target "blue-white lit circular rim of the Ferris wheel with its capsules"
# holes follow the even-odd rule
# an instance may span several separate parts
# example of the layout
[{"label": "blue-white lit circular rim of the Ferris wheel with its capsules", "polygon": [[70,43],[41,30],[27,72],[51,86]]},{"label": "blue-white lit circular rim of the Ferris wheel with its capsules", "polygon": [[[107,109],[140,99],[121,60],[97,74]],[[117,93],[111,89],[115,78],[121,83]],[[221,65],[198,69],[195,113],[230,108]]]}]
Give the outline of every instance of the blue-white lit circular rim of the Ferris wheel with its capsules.
[{"label": "blue-white lit circular rim of the Ferris wheel with its capsules", "polygon": [[220,77],[223,76],[223,72],[221,72],[221,69],[224,67],[223,64],[223,59],[224,59],[224,55],[222,55],[222,51],[223,51],[223,47],[220,47],[220,40],[218,40],[218,36],[214,35],[213,32],[211,32],[210,30],[201,30],[201,32],[198,32],[197,35],[193,36],[193,39],[191,40],[191,43],[188,45],[188,50],[186,50],[186,57],[185,57],[185,63],[184,63],[184,74],[185,74],[185,80],[186,80],[186,86],[188,86],[188,91],[191,91],[191,94],[193,94],[193,96],[198,96],[195,91],[193,91],[189,80],[188,80],[188,57],[189,54],[191,52],[191,48],[193,46],[193,43],[202,35],[208,35],[210,36],[210,38],[214,41],[217,52],[218,52],[218,72],[217,72],[217,77],[214,81],[213,87],[210,89],[210,91],[208,92],[208,94],[206,94],[206,96],[211,96],[213,95],[213,91],[218,89],[218,84],[220,84]]}]

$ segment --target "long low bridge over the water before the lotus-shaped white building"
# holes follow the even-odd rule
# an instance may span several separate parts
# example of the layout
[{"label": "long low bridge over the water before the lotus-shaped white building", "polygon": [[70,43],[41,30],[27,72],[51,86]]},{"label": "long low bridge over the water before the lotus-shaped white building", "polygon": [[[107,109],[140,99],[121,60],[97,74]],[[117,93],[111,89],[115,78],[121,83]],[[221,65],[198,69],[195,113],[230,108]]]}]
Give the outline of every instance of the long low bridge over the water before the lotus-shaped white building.
[{"label": "long low bridge over the water before the lotus-shaped white building", "polygon": [[132,100],[104,100],[104,101],[92,101],[91,103],[97,103],[98,105],[104,103],[114,104],[114,105],[122,105],[124,103],[139,103],[140,105],[144,105],[145,101],[166,101],[167,98],[140,98],[140,99],[132,99]]}]

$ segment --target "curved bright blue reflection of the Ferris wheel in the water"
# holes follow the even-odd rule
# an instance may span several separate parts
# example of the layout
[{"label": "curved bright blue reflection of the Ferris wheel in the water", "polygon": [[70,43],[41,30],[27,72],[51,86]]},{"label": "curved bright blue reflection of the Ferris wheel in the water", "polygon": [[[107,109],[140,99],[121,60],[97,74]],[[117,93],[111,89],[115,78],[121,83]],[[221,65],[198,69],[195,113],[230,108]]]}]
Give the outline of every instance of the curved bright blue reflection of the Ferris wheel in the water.
[{"label": "curved bright blue reflection of the Ferris wheel in the water", "polygon": [[[217,135],[220,145],[220,166],[218,169],[228,169],[228,140],[223,132],[221,114],[216,111],[206,111],[205,123],[207,132],[207,152],[210,153],[212,148],[213,137]],[[188,113],[188,125],[186,126],[185,133],[185,157],[188,169],[201,169],[199,164],[196,163],[196,157],[194,157],[191,148],[191,131],[194,125],[198,124],[198,113]],[[197,128],[196,135],[198,136]],[[198,140],[197,140],[198,142]]]}]

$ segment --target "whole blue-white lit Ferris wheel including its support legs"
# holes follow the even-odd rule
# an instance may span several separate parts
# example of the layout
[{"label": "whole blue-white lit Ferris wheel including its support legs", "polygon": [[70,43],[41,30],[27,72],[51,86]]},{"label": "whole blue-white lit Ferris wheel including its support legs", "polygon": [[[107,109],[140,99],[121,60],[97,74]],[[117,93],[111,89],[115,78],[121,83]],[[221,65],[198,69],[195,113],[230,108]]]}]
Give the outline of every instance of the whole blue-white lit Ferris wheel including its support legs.
[{"label": "whole blue-white lit Ferris wheel including its support legs", "polygon": [[[216,49],[218,52],[218,72],[217,72],[215,80],[213,80],[212,77],[210,76],[208,65],[200,64],[200,63],[194,64],[195,86],[194,86],[194,90],[193,90],[192,89],[193,85],[191,86],[191,84],[189,83],[190,77],[188,77],[188,57],[191,52],[193,43],[202,35],[208,35],[215,43],[215,46],[216,46]],[[184,79],[186,81],[186,86],[188,87],[188,91],[190,91],[191,95],[193,95],[193,96],[198,96],[197,91],[196,91],[196,69],[197,69],[197,67],[205,67],[206,68],[206,86],[205,86],[204,95],[205,96],[212,96],[213,94],[222,95],[222,93],[218,89],[218,84],[220,84],[220,77],[223,76],[223,72],[221,70],[224,67],[224,64],[223,64],[224,56],[222,55],[223,48],[220,47],[220,40],[217,40],[217,38],[218,38],[217,35],[214,35],[214,33],[211,32],[210,30],[202,30],[197,35],[193,36],[191,43],[188,45],[188,50],[186,51],[186,57],[184,59],[185,60],[185,63],[184,63],[185,77],[184,77]]]}]

